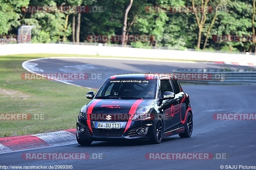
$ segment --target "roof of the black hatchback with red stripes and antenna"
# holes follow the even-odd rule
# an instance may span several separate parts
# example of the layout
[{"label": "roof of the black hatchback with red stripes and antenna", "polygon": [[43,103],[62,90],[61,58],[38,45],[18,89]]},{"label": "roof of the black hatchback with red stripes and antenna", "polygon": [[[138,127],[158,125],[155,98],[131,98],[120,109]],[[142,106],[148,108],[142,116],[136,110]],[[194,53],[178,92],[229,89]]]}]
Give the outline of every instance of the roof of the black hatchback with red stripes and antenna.
[{"label": "roof of the black hatchback with red stripes and antenna", "polygon": [[110,76],[108,79],[118,79],[118,78],[146,78],[146,79],[168,79],[175,78],[172,74],[164,73],[129,73],[129,74],[119,74]]}]

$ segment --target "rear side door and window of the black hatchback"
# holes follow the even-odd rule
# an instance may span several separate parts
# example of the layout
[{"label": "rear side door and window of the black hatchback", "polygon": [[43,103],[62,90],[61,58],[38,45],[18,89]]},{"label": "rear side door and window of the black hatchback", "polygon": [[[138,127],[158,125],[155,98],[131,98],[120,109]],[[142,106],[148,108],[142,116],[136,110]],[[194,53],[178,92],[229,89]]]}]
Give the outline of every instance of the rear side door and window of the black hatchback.
[{"label": "rear side door and window of the black hatchback", "polygon": [[186,114],[186,104],[184,103],[185,100],[185,93],[182,92],[180,88],[180,84],[177,79],[172,79],[172,86],[174,88],[174,93],[175,93],[175,100],[178,102],[177,107],[175,107],[176,111],[179,112],[179,119],[177,119],[178,124],[181,124],[181,121],[185,119],[185,114]]}]

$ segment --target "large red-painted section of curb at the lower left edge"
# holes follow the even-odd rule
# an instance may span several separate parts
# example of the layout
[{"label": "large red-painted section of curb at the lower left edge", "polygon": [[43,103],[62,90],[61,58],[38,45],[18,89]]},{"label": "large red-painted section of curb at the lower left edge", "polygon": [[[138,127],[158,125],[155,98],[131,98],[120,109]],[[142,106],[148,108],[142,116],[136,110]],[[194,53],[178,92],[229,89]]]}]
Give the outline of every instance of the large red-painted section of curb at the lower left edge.
[{"label": "large red-painted section of curb at the lower left edge", "polygon": [[32,135],[0,138],[0,144],[10,148],[13,151],[51,146],[51,144],[47,144],[47,142],[43,139]]}]

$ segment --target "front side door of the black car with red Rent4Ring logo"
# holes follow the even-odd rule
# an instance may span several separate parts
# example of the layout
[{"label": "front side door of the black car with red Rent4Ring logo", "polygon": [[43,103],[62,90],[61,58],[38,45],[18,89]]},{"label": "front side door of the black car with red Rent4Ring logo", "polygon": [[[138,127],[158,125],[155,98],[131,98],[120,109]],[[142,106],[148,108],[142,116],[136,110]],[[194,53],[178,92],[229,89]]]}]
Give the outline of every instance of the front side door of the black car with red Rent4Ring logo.
[{"label": "front side door of the black car with red Rent4Ring logo", "polygon": [[[170,79],[160,80],[161,97],[163,96],[164,92],[174,92]],[[172,100],[163,100],[163,103],[159,107],[160,112],[163,113],[165,132],[179,124],[180,115],[177,114],[177,107],[179,107],[177,97]]]}]

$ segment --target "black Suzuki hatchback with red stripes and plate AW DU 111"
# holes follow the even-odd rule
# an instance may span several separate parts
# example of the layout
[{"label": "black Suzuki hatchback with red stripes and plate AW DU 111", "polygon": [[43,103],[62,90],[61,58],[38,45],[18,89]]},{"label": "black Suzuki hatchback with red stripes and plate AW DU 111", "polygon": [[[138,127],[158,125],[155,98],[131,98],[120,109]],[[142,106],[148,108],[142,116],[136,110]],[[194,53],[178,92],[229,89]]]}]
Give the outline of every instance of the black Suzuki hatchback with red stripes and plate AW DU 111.
[{"label": "black Suzuki hatchback with red stripes and plate AW DU 111", "polygon": [[193,115],[189,96],[173,75],[122,74],[109,77],[76,121],[78,144],[92,141],[149,140],[190,137]]}]

